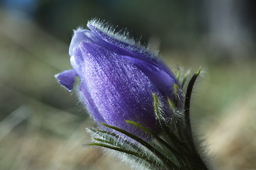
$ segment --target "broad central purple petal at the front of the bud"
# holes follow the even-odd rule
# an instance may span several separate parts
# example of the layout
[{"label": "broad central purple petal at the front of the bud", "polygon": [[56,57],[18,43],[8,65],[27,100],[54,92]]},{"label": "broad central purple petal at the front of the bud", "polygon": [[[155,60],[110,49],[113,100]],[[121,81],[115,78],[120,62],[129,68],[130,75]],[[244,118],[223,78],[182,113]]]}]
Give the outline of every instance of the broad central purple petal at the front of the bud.
[{"label": "broad central purple petal at the front of the bud", "polygon": [[125,120],[156,130],[152,94],[160,94],[160,91],[152,81],[138,67],[104,47],[82,42],[79,50],[87,55],[80,77],[89,93],[84,96],[93,98],[96,113],[106,123],[130,132],[135,132],[136,128]]}]

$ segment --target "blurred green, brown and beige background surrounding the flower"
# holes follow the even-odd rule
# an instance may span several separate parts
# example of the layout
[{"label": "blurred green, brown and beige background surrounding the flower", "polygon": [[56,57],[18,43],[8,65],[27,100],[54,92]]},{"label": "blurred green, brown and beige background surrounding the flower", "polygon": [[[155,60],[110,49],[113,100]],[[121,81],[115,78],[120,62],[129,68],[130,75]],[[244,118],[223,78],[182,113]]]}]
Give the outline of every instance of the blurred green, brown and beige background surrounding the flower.
[{"label": "blurred green, brown and beige background surrounding the flower", "polygon": [[127,28],[175,72],[204,69],[192,124],[215,169],[256,169],[253,0],[0,0],[0,169],[129,169],[90,141],[86,111],[54,78],[71,68],[72,30]]}]

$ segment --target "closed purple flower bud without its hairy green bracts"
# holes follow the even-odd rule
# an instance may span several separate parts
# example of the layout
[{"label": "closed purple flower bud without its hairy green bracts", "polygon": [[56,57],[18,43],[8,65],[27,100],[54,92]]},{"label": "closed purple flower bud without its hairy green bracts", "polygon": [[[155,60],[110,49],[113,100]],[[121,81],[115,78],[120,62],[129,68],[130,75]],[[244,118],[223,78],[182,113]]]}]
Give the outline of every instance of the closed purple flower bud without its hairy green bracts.
[{"label": "closed purple flower bud without its hairy green bracts", "polygon": [[140,137],[142,130],[126,123],[132,120],[158,132],[152,94],[162,103],[164,116],[171,118],[167,97],[174,100],[174,74],[153,53],[126,35],[113,33],[100,21],[87,23],[90,30],[74,31],[69,55],[73,69],[57,74],[62,86],[73,89],[74,77],[80,100],[96,123],[123,128]]}]

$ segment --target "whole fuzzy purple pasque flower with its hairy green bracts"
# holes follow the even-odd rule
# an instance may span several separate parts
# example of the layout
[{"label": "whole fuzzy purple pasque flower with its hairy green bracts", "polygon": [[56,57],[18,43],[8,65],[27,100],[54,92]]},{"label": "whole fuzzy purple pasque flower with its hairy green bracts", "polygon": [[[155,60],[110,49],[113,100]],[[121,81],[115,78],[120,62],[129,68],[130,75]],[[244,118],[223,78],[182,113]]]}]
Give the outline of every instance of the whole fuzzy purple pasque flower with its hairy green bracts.
[{"label": "whole fuzzy purple pasque flower with its hairy green bracts", "polygon": [[97,20],[87,27],[74,31],[69,46],[73,69],[55,76],[68,91],[79,78],[74,91],[98,124],[90,128],[93,143],[87,145],[110,149],[133,169],[207,170],[189,113],[201,69],[186,83],[187,74],[178,71],[176,79],[128,33],[115,33]]}]

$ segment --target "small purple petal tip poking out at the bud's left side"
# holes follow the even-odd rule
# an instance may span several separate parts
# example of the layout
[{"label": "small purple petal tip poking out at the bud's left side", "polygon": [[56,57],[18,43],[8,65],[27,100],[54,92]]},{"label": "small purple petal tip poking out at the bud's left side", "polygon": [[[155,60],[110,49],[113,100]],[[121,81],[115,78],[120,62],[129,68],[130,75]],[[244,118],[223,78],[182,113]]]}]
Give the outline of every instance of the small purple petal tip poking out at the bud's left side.
[{"label": "small purple petal tip poking out at the bud's left side", "polygon": [[65,86],[65,88],[68,91],[71,91],[73,89],[73,84],[74,84],[74,77],[77,75],[76,72],[74,72],[74,69],[68,69],[65,70],[64,72],[61,72],[55,77],[58,79],[59,83],[62,86]]}]

